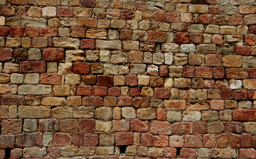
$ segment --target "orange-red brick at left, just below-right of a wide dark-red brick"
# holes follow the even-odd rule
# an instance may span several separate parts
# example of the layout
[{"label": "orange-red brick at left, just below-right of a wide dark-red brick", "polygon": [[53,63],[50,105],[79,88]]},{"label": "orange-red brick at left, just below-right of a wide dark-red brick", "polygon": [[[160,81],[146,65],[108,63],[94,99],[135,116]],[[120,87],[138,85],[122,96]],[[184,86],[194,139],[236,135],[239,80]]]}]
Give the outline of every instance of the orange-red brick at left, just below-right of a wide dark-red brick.
[{"label": "orange-red brick at left, just below-right of a wide dark-red brick", "polygon": [[41,74],[40,81],[42,84],[61,85],[63,76],[61,74]]}]

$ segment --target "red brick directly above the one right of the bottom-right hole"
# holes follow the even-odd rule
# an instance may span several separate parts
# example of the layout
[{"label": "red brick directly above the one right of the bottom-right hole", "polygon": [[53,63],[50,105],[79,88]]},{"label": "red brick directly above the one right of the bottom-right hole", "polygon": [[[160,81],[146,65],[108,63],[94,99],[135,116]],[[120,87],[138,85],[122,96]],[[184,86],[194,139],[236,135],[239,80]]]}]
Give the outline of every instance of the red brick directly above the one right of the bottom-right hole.
[{"label": "red brick directly above the one right of the bottom-right hole", "polygon": [[201,135],[188,135],[185,137],[185,147],[201,148],[203,147],[203,138]]}]

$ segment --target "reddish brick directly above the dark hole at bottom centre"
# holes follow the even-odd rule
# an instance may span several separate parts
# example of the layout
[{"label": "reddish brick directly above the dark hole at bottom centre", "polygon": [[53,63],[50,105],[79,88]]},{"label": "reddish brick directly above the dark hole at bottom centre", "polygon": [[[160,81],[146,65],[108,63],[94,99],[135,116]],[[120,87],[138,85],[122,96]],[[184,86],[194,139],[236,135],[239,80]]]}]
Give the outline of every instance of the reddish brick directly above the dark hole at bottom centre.
[{"label": "reddish brick directly above the dark hole at bottom centre", "polygon": [[116,132],[116,146],[132,145],[134,143],[134,135],[132,132]]}]

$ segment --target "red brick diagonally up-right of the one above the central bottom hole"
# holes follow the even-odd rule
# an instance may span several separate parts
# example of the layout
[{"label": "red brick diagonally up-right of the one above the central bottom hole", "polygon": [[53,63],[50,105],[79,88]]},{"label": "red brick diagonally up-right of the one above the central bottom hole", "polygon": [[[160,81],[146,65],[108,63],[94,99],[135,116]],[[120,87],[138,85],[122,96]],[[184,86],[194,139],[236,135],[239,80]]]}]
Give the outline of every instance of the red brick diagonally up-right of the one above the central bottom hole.
[{"label": "red brick diagonally up-right of the one above the central bottom hole", "polygon": [[148,121],[132,120],[130,121],[130,131],[148,132]]}]

